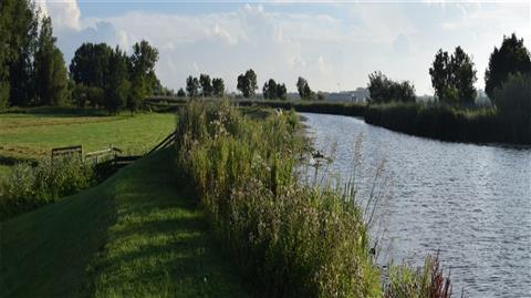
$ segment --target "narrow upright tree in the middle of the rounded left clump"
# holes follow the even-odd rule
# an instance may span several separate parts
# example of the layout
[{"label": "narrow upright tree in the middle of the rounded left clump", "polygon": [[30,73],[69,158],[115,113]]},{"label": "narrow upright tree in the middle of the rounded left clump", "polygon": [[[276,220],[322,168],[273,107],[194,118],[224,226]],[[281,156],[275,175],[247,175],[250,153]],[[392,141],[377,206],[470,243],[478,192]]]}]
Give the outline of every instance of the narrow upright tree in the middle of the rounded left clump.
[{"label": "narrow upright tree in the middle of the rounded left clump", "polygon": [[118,47],[111,52],[105,82],[105,109],[115,114],[125,107],[131,88],[127,55]]}]

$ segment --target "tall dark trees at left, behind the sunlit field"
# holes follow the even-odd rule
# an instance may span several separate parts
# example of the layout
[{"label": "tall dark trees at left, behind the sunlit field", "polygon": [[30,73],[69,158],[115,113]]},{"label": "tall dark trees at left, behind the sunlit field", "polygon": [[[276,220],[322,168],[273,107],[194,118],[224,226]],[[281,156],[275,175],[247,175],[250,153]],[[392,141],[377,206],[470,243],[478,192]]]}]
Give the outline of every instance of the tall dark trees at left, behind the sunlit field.
[{"label": "tall dark trees at left, behind the sunlit field", "polygon": [[156,74],[158,51],[142,41],[133,53],[105,43],[83,43],[66,69],[50,17],[31,0],[0,2],[0,109],[69,105],[137,111],[164,92]]}]

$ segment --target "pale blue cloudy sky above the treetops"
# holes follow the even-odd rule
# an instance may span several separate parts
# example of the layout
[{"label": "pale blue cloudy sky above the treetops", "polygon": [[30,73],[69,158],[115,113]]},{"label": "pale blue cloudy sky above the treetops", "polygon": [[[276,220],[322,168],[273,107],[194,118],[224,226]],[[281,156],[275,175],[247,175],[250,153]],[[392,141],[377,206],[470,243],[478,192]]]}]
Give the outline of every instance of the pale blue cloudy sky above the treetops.
[{"label": "pale blue cloudy sky above the treetops", "polygon": [[457,45],[472,56],[476,88],[503,35],[517,33],[531,49],[531,1],[183,1],[38,0],[52,18],[58,45],[70,61],[83,42],[131,52],[147,40],[159,51],[156,73],[177,90],[188,75],[237,76],[253,69],[261,88],[270,78],[295,91],[366,86],[382,71],[433,94],[428,69],[435,53]]}]

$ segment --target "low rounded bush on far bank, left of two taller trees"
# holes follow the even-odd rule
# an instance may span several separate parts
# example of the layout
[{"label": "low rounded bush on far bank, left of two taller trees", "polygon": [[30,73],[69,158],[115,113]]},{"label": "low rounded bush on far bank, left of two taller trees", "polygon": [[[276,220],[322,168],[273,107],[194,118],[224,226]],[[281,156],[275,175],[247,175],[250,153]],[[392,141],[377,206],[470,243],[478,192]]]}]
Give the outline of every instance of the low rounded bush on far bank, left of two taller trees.
[{"label": "low rounded bush on far bank, left of two taller trees", "polygon": [[368,75],[368,92],[372,103],[415,102],[415,86],[409,81],[395,82],[382,72]]}]

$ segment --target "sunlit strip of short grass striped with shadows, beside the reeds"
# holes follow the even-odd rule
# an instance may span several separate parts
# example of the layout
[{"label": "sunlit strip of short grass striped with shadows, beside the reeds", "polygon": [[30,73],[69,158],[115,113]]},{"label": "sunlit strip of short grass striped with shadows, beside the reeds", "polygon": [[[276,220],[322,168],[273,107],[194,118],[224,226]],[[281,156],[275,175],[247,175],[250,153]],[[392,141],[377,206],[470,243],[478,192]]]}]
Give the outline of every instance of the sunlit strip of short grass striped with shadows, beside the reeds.
[{"label": "sunlit strip of short grass striped with shadows, beside the reeds", "polygon": [[173,156],[142,160],[114,185],[116,222],[90,268],[95,296],[247,296],[202,213],[177,186]]}]

